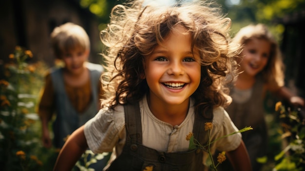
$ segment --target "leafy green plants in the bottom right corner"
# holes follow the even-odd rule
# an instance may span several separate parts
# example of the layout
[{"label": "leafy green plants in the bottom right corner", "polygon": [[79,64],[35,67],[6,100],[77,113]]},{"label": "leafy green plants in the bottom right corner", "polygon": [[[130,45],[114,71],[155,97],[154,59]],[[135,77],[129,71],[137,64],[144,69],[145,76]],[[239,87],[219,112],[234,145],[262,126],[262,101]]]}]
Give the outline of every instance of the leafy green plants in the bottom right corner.
[{"label": "leafy green plants in the bottom right corner", "polygon": [[301,109],[291,110],[278,102],[275,111],[280,117],[282,138],[286,142],[283,151],[274,157],[275,171],[305,170],[305,113]]}]

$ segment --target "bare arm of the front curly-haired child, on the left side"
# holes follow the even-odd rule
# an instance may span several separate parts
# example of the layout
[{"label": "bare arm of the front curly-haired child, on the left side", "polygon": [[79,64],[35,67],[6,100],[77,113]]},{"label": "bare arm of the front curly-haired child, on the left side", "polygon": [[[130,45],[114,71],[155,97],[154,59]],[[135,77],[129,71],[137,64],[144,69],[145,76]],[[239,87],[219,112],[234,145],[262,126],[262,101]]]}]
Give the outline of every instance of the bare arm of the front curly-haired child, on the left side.
[{"label": "bare arm of the front curly-haired child, on the left side", "polygon": [[88,148],[84,126],[78,128],[67,139],[57,157],[54,171],[71,171],[81,154]]}]

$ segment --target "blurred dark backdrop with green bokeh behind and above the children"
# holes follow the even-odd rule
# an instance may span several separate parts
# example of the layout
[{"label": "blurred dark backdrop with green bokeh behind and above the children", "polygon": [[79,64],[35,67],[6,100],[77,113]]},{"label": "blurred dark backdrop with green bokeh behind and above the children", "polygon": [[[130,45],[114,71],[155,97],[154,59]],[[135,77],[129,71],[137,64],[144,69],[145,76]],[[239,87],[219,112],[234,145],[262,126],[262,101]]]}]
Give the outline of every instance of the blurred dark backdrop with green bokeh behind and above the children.
[{"label": "blurred dark backdrop with green bokeh behind and above the children", "polygon": [[[99,31],[109,21],[115,4],[124,0],[2,0],[0,5],[0,63],[9,60],[16,45],[32,51],[31,62],[54,65],[50,33],[74,22],[87,31],[92,45],[90,61],[101,62]],[[168,3],[174,0],[155,0]],[[187,0],[186,0],[187,1]],[[279,41],[286,63],[286,83],[304,96],[305,0],[215,0],[232,19],[232,36],[249,23],[264,23]],[[295,86],[295,87],[294,87]]]}]

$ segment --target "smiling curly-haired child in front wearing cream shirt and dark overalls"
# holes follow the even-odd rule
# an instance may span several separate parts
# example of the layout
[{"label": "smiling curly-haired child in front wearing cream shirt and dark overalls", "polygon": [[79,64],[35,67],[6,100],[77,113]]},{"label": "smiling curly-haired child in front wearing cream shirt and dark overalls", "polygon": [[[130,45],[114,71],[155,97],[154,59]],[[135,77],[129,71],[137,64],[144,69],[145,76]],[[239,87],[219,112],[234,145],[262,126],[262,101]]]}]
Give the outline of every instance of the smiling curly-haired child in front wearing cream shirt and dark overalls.
[{"label": "smiling curly-haired child in front wearing cream shirt and dark overalls", "polygon": [[[189,150],[185,137],[192,132],[207,144],[238,131],[224,110],[240,53],[229,44],[229,27],[214,3],[115,6],[101,32],[102,109],[69,137],[54,170],[71,169],[88,146],[112,152],[105,171],[206,170],[208,153]],[[240,133],[210,144],[216,149],[228,153],[236,171],[250,171]]]}]

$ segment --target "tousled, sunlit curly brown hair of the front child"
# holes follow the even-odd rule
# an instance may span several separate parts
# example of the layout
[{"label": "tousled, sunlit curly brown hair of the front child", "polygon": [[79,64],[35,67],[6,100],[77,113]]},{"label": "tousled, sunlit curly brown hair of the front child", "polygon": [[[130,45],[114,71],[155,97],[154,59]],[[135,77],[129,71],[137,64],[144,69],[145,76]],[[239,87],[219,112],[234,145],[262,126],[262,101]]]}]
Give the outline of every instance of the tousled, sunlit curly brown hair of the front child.
[{"label": "tousled, sunlit curly brown hair of the front child", "polygon": [[[191,95],[197,111],[229,105],[229,90],[224,86],[235,77],[233,57],[240,53],[240,46],[229,46],[231,20],[224,18],[214,3],[143,7],[141,2],[115,6],[110,24],[101,31],[101,40],[106,46],[106,53],[102,55],[108,70],[102,80],[109,93],[103,106],[114,108],[118,104],[137,102],[149,92],[143,79],[144,58],[177,25],[188,30],[191,49],[197,48],[201,57],[200,85]],[[230,80],[225,79],[228,75]]]}]

